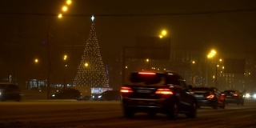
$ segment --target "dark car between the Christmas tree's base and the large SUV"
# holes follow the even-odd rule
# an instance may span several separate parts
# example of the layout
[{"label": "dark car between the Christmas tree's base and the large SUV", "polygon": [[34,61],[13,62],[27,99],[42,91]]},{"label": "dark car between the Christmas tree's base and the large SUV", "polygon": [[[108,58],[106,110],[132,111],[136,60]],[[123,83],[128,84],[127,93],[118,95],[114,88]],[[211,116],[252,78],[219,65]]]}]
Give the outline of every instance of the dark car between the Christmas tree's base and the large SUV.
[{"label": "dark car between the Christmas tree's base and the large SUV", "polygon": [[121,94],[119,90],[106,90],[102,94],[95,95],[95,101],[120,101]]}]

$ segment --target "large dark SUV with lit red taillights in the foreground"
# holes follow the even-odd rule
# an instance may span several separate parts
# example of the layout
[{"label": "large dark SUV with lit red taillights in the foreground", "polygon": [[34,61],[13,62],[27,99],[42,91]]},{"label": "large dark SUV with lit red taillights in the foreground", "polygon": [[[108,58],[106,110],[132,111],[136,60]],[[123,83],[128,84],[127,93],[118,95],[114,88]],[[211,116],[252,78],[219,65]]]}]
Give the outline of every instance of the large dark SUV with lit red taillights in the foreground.
[{"label": "large dark SUV with lit red taillights in the foreground", "polygon": [[166,114],[169,118],[178,118],[186,114],[195,118],[197,99],[190,94],[185,80],[174,72],[134,72],[130,75],[130,84],[121,87],[122,107],[126,118],[135,113],[149,115]]}]

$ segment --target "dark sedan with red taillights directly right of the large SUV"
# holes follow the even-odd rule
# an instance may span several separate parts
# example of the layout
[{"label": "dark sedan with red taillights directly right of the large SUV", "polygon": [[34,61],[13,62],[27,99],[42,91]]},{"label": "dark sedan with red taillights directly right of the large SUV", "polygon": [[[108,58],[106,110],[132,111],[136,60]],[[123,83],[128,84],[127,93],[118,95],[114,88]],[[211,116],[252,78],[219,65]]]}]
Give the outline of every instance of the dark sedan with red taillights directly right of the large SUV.
[{"label": "dark sedan with red taillights directly right of the large SUV", "polygon": [[191,93],[198,99],[198,108],[201,106],[210,106],[214,109],[225,108],[225,96],[216,87],[200,86],[193,87]]}]

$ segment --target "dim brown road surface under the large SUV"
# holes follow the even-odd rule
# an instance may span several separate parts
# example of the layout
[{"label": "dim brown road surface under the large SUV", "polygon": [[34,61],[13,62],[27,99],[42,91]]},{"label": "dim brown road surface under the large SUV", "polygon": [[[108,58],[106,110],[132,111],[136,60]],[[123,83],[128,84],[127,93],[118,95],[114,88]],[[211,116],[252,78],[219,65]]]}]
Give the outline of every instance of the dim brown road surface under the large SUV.
[{"label": "dim brown road surface under the large SUV", "polygon": [[164,114],[149,117],[136,114],[124,118],[120,102],[92,102],[73,100],[0,102],[0,127],[37,128],[254,128],[256,127],[256,101],[244,106],[228,105],[213,110],[202,107],[197,118],[180,114],[170,120]]}]

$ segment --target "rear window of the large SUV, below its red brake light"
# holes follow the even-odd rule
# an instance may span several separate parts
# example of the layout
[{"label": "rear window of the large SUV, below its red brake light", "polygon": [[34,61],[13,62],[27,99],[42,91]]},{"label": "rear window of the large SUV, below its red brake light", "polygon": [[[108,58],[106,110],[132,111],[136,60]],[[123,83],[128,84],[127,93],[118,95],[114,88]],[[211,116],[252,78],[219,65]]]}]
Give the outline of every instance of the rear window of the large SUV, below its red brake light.
[{"label": "rear window of the large SUV, below its red brake light", "polygon": [[145,84],[155,84],[161,82],[164,74],[138,72],[130,75],[130,82],[143,82]]}]

